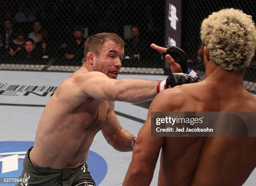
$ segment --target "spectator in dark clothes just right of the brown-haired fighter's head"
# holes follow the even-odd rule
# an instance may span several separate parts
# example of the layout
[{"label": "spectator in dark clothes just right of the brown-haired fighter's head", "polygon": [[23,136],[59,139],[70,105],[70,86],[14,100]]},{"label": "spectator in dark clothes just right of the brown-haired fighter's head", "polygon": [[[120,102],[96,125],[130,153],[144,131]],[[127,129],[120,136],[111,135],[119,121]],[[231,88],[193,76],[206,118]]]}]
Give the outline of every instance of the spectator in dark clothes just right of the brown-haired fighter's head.
[{"label": "spectator in dark clothes just right of the brown-haired fighter's head", "polygon": [[140,32],[137,26],[131,26],[131,36],[132,38],[126,41],[126,51],[125,53],[131,57],[141,58],[141,51],[143,49],[143,43],[140,38]]}]

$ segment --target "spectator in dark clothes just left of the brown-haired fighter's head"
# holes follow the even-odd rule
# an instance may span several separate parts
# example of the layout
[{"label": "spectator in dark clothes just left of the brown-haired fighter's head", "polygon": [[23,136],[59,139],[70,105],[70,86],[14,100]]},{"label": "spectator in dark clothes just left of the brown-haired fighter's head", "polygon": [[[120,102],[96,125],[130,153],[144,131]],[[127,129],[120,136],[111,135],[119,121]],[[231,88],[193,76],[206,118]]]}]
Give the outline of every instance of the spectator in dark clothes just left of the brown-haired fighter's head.
[{"label": "spectator in dark clothes just left of the brown-haired fighter's head", "polygon": [[76,26],[74,28],[73,38],[67,43],[67,48],[65,48],[65,59],[81,64],[84,53],[84,42],[82,28]]}]

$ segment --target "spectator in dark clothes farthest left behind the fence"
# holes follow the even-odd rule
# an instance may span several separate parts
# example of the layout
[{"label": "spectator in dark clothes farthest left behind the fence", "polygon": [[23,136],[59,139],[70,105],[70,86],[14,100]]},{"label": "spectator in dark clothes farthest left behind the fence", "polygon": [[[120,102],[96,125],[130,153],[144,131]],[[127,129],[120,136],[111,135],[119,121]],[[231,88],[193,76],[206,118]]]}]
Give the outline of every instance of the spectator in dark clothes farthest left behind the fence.
[{"label": "spectator in dark clothes farthest left behind the fence", "polygon": [[2,47],[6,52],[9,52],[10,42],[14,38],[13,23],[11,20],[5,20],[4,30],[1,36],[2,36]]}]

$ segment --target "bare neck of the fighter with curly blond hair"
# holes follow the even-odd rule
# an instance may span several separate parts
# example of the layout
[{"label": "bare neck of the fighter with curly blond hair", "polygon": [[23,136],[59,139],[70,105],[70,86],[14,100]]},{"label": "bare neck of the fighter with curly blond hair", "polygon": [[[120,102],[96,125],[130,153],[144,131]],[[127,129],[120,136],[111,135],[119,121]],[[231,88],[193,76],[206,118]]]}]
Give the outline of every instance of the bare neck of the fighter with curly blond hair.
[{"label": "bare neck of the fighter with curly blond hair", "polygon": [[210,61],[205,68],[205,80],[223,86],[243,86],[244,71],[228,71]]}]

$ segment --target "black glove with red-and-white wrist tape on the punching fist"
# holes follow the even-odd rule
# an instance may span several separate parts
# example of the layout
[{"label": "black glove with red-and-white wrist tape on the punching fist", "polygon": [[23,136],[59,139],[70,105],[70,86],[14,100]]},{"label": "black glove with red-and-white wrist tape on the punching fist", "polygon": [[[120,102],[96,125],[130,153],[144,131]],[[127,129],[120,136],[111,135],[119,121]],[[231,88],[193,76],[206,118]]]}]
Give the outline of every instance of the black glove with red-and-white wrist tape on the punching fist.
[{"label": "black glove with red-and-white wrist tape on the punching fist", "polygon": [[197,79],[193,78],[184,73],[174,73],[167,77],[157,85],[157,93],[163,91],[164,89],[175,87],[176,85],[182,85],[187,83],[195,83]]}]

